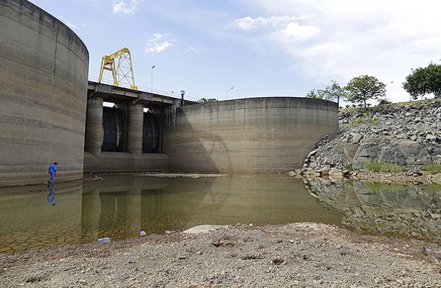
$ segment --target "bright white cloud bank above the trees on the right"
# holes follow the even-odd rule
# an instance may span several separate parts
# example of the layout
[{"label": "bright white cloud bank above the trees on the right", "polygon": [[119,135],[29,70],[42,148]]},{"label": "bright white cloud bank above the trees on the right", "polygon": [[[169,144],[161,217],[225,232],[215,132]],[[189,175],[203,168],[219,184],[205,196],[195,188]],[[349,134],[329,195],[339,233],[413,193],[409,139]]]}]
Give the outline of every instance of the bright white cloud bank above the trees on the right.
[{"label": "bright white cloud bank above the trees on the right", "polygon": [[317,87],[311,88],[331,79],[345,85],[354,76],[370,74],[384,83],[393,81],[387,85],[388,98],[405,101],[409,95],[402,82],[411,68],[440,60],[441,1],[245,1],[264,14],[284,15],[234,23],[244,32],[259,32],[254,41],[289,55],[299,74],[315,80]]}]

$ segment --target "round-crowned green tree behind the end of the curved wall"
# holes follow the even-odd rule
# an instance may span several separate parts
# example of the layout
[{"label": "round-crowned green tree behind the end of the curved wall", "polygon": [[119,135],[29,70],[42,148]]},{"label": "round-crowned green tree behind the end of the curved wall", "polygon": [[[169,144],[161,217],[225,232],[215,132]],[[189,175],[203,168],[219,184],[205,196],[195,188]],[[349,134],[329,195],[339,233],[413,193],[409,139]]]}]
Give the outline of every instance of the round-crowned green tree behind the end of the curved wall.
[{"label": "round-crowned green tree behind the end of the curved wall", "polygon": [[354,77],[347,83],[347,100],[351,103],[362,103],[367,107],[366,101],[370,99],[380,99],[386,96],[386,85],[374,76]]}]

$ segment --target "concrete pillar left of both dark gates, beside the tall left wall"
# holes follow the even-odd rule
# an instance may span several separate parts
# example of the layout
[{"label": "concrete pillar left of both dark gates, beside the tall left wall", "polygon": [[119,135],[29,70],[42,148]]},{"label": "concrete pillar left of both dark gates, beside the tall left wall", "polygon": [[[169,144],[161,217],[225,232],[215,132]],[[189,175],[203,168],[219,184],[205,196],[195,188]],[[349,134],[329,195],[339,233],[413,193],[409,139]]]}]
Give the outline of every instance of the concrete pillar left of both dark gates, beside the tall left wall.
[{"label": "concrete pillar left of both dark gates, beside the tall left wall", "polygon": [[103,99],[89,99],[85,119],[84,150],[99,156],[101,145],[103,145]]}]

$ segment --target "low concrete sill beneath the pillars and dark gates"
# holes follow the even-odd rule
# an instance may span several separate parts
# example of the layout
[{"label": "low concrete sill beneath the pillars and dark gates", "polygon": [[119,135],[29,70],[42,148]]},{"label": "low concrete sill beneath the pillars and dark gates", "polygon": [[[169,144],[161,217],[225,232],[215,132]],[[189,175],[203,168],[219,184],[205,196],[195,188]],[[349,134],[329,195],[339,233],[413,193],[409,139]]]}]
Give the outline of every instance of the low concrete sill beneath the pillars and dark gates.
[{"label": "low concrete sill beneath the pillars and dark gates", "polygon": [[84,172],[162,172],[168,171],[169,158],[165,154],[135,155],[125,152],[101,152],[94,156],[84,152]]}]

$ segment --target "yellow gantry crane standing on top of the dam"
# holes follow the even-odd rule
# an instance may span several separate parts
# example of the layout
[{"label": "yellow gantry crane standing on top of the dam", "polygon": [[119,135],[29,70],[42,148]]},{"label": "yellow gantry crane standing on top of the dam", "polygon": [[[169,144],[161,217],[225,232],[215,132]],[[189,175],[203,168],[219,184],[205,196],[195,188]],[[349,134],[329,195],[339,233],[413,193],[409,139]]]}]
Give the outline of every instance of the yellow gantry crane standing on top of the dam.
[{"label": "yellow gantry crane standing on top of the dam", "polygon": [[135,77],[132,68],[132,57],[127,48],[103,56],[103,59],[101,60],[101,69],[99,70],[99,83],[101,83],[101,79],[103,79],[104,70],[112,72],[113,85],[130,85],[131,89],[136,90]]}]

